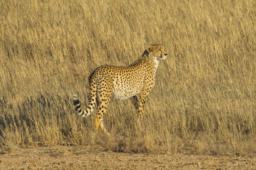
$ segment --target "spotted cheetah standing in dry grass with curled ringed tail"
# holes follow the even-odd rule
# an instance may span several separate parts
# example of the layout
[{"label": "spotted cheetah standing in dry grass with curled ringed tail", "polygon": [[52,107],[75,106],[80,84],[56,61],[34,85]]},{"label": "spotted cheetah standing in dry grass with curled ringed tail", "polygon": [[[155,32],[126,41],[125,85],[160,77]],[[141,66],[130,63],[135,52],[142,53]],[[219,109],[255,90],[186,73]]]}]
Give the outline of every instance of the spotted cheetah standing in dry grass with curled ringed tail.
[{"label": "spotted cheetah standing in dry grass with curled ringed tail", "polygon": [[89,105],[85,110],[81,109],[78,96],[74,95],[76,112],[82,117],[89,116],[97,100],[96,132],[100,128],[101,131],[109,134],[104,128],[103,116],[113,95],[116,99],[131,97],[137,106],[139,119],[142,118],[145,100],[155,84],[158,62],[166,58],[167,52],[162,45],[149,45],[142,56],[129,66],[99,66],[89,76]]}]

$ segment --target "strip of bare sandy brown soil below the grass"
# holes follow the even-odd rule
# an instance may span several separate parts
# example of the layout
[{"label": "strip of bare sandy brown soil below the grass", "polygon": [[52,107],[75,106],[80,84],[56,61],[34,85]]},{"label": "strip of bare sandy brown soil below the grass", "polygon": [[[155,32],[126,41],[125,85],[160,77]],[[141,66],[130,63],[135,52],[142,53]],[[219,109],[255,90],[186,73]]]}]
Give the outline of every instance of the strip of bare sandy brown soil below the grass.
[{"label": "strip of bare sandy brown soil below the grass", "polygon": [[39,147],[1,152],[0,169],[256,169],[256,158],[125,154],[95,147]]}]

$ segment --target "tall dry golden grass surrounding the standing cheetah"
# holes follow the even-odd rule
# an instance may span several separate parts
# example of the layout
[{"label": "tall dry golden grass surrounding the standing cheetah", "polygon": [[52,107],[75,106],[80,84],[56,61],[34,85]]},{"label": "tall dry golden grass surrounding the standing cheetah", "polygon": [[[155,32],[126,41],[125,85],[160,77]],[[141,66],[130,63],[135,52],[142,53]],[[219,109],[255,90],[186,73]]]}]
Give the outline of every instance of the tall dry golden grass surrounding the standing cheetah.
[{"label": "tall dry golden grass surrounding the standing cheetah", "polygon": [[[131,64],[153,43],[169,56],[142,122],[129,99],[112,99],[111,137],[96,135],[72,95],[85,107],[97,66]],[[255,154],[255,59],[253,0],[2,0],[0,145]]]}]

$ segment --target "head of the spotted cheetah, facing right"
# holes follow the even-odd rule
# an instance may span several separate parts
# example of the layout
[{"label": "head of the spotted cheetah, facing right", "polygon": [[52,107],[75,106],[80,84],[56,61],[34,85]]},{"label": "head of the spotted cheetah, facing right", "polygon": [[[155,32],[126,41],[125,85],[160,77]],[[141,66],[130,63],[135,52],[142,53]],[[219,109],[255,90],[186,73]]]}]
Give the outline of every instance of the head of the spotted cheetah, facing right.
[{"label": "head of the spotted cheetah, facing right", "polygon": [[167,51],[162,45],[149,45],[144,53],[147,53],[149,58],[153,60],[165,60],[167,58]]}]

